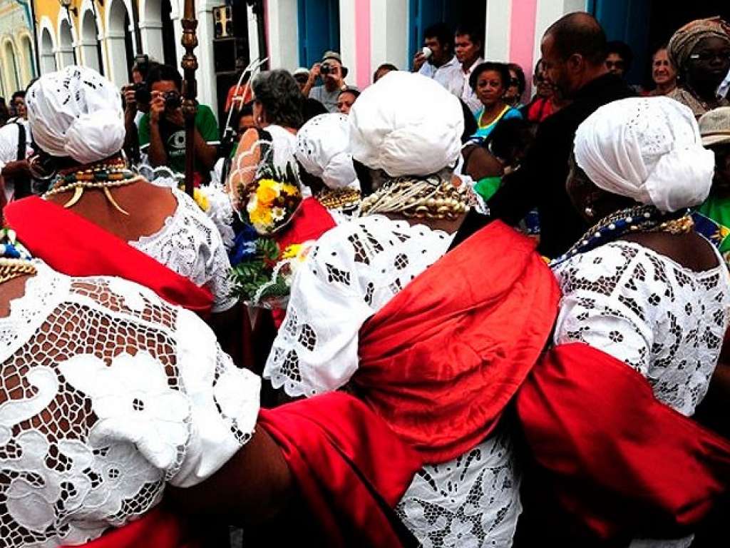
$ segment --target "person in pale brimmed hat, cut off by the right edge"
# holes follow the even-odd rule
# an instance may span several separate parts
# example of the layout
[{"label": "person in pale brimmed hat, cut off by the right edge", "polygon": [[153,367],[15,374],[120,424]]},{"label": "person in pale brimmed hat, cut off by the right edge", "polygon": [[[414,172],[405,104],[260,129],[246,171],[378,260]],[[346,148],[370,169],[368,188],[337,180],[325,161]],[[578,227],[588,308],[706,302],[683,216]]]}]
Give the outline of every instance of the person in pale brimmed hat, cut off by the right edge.
[{"label": "person in pale brimmed hat, cut off by the right edge", "polygon": [[730,265],[730,107],[719,107],[699,118],[702,144],[715,154],[710,197],[697,208],[697,229],[709,238]]}]

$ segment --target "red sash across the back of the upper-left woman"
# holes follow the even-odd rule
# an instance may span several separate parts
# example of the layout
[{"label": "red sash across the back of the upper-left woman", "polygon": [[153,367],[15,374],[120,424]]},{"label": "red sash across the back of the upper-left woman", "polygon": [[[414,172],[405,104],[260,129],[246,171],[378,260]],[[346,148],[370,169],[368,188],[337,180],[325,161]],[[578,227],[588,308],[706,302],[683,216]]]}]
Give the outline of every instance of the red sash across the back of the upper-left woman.
[{"label": "red sash across the back of the upper-left woman", "polygon": [[201,316],[213,297],[184,276],[80,215],[39,197],[7,205],[5,222],[18,240],[50,267],[70,276],[118,276],[151,289]]}]

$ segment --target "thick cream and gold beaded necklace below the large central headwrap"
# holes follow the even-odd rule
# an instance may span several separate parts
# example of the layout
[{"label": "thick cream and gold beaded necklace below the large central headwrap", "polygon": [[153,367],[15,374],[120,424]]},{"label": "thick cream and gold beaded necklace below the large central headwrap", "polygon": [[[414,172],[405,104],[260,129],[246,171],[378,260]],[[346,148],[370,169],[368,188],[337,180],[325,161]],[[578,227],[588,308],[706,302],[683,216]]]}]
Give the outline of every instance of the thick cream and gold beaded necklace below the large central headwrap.
[{"label": "thick cream and gold beaded necklace below the large central headwrap", "polygon": [[399,177],[363,199],[360,216],[400,213],[407,218],[453,221],[469,209],[466,184],[455,186],[450,178],[431,175],[425,179]]}]

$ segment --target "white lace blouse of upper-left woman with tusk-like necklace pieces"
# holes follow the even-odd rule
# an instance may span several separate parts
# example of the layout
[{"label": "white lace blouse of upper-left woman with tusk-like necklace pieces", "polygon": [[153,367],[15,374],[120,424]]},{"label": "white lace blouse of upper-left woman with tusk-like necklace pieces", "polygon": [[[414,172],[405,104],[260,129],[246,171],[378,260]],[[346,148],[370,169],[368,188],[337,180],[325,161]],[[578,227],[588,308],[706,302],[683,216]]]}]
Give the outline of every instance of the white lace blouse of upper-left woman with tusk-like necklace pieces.
[{"label": "white lace blouse of upper-left woman with tusk-like necklace pieces", "polygon": [[213,294],[213,312],[223,312],[236,304],[231,297],[226,248],[211,219],[188,194],[172,189],[177,199],[174,213],[163,227],[150,236],[142,236],[129,245],[151,256],[170,270],[185,276],[196,286]]}]

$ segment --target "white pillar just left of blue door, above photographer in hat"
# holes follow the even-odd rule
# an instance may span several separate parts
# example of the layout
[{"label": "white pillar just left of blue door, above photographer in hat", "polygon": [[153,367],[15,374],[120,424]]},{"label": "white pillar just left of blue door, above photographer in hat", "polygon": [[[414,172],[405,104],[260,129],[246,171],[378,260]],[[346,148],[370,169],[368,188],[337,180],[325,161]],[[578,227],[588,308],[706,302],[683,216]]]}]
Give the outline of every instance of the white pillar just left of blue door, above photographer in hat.
[{"label": "white pillar just left of blue door, above photographer in hat", "polygon": [[296,0],[270,0],[266,2],[266,6],[271,52],[269,66],[294,70],[299,66],[299,17]]}]

